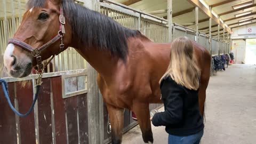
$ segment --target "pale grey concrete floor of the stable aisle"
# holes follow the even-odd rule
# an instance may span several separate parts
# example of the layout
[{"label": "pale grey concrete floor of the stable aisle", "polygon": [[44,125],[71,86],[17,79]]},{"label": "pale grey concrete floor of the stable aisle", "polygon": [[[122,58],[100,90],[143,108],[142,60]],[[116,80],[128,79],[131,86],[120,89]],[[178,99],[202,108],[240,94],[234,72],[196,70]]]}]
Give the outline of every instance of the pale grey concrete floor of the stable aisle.
[{"label": "pale grey concrete floor of the stable aisle", "polygon": [[[256,143],[255,67],[233,65],[210,78],[206,96],[206,122],[201,143]],[[152,129],[154,143],[167,143],[164,127],[152,125]],[[143,143],[139,126],[124,134],[123,144],[130,143]]]}]

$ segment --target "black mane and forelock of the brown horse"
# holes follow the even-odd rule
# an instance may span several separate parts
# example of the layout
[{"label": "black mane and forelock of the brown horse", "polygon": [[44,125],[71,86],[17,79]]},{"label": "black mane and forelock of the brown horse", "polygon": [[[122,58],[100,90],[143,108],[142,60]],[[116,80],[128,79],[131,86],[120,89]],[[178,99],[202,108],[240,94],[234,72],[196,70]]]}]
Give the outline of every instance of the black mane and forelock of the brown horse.
[{"label": "black mane and forelock of the brown horse", "polygon": [[[46,0],[29,0],[31,7],[44,7]],[[126,60],[127,38],[135,37],[140,32],[121,26],[113,19],[99,12],[87,9],[74,3],[73,0],[62,0],[64,14],[73,30],[73,36],[85,47],[98,47],[99,50],[108,50],[112,55]]]}]

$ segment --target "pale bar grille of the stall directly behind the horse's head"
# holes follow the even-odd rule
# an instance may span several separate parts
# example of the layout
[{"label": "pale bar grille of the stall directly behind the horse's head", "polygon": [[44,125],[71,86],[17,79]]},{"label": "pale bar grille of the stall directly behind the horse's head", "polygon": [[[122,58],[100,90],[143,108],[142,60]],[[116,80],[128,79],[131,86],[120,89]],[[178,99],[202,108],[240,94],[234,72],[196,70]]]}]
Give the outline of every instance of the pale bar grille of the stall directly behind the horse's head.
[{"label": "pale bar grille of the stall directly behind the horse's head", "polygon": [[[0,9],[3,10],[3,17],[0,18],[0,69],[3,67],[2,58],[7,46],[9,38],[13,37],[16,30],[20,26],[23,13],[25,13],[26,2],[18,1],[1,1]],[[70,58],[71,57],[71,61]],[[45,72],[58,72],[65,70],[85,69],[86,61],[83,57],[75,51],[74,48],[69,47],[67,50],[59,54],[52,60]],[[2,74],[0,70],[0,77],[7,76]]]}]

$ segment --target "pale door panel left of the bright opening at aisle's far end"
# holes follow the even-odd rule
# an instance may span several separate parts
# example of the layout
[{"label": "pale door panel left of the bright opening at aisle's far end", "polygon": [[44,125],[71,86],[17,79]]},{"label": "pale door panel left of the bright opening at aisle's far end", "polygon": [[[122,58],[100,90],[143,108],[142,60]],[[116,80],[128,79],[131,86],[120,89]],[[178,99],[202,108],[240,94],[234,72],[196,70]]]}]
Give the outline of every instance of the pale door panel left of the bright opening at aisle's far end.
[{"label": "pale door panel left of the bright opening at aisle's far end", "polygon": [[234,53],[235,63],[245,63],[245,47],[246,42],[243,39],[234,39],[232,42],[233,49],[231,52]]}]

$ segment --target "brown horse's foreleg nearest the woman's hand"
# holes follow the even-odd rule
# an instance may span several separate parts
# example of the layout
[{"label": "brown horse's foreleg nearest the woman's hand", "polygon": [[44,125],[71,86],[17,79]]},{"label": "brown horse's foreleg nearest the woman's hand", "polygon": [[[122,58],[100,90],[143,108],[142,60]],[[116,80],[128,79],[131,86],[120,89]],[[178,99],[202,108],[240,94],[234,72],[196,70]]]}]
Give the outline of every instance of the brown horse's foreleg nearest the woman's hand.
[{"label": "brown horse's foreleg nearest the woman's hand", "polygon": [[137,116],[140,129],[142,132],[142,138],[145,143],[153,143],[153,133],[151,130],[151,122],[149,115],[148,103],[133,103],[132,111]]}]

